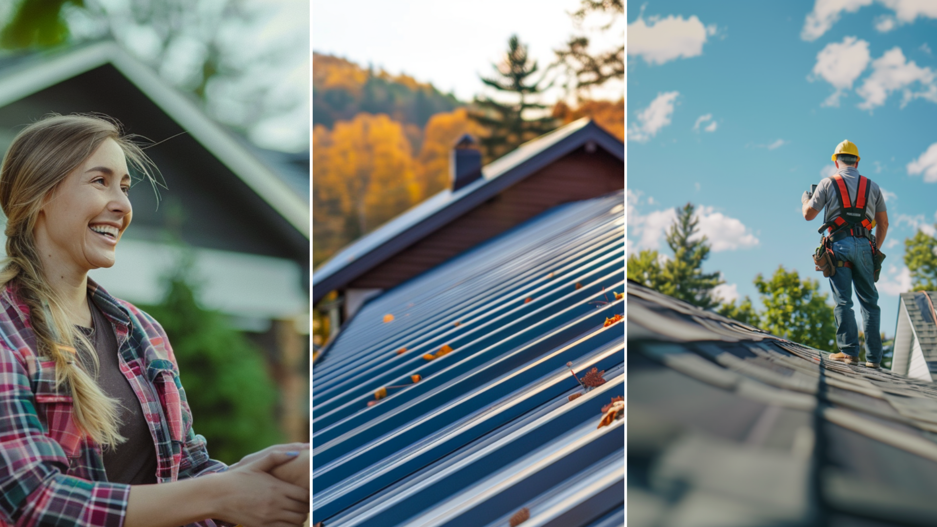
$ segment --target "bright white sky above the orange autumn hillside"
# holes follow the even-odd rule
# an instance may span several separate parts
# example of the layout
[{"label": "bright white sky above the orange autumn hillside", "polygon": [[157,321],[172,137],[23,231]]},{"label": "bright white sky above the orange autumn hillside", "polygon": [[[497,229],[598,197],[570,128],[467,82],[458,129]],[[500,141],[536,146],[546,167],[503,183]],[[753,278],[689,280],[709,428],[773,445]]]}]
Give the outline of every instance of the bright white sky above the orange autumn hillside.
[{"label": "bright white sky above the orange autumn hillside", "polygon": [[[513,33],[528,44],[528,53],[542,68],[555,60],[553,50],[575,30],[567,12],[579,4],[579,0],[313,0],[312,47],[365,68],[370,63],[391,73],[407,73],[468,100],[482,90],[479,74],[492,74],[490,65],[507,50]],[[620,42],[620,27],[600,34],[595,25],[587,20],[584,27],[593,28],[590,35],[602,47]],[[620,98],[622,88],[617,83],[594,95]],[[549,101],[558,95],[554,92]]]}]

